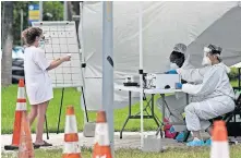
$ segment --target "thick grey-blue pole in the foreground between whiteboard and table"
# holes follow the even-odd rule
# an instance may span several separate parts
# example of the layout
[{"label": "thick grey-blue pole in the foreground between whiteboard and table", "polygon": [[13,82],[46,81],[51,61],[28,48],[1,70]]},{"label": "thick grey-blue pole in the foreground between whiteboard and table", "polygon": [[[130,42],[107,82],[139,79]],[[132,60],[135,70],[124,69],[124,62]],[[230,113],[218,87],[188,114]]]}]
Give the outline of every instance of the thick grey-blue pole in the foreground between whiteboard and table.
[{"label": "thick grey-blue pole in the foreground between whiteboard and table", "polygon": [[112,2],[103,2],[103,109],[109,127],[110,147],[113,157],[113,24]]}]

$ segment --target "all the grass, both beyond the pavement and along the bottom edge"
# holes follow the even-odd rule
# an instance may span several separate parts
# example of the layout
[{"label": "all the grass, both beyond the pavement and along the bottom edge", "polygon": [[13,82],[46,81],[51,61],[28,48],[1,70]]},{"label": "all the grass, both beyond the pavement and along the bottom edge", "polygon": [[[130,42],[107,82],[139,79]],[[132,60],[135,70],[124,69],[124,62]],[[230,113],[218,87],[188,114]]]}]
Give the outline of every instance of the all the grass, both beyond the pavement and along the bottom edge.
[{"label": "all the grass, both beyond the pavement and along the bottom edge", "polygon": [[[231,82],[233,86],[238,85],[237,82]],[[14,121],[14,112],[15,112],[15,101],[16,101],[16,90],[17,86],[12,85],[10,87],[2,88],[2,133],[12,133],[13,121]],[[64,111],[68,105],[73,105],[75,107],[75,113],[79,123],[79,130],[83,130],[83,111],[80,107],[80,93],[74,88],[68,88],[65,90],[65,96],[63,99],[63,112],[61,116],[61,124],[60,130],[63,132],[64,129]],[[59,113],[59,105],[60,105],[60,96],[61,89],[55,89],[55,99],[49,105],[47,117],[49,130],[51,132],[56,132],[57,122],[58,122],[58,113]],[[158,96],[157,96],[158,97]],[[155,100],[157,99],[155,98]],[[29,104],[28,110],[29,110]],[[160,117],[160,113],[157,109],[156,113]],[[133,113],[140,111],[138,104],[133,106]],[[115,129],[116,131],[120,131],[124,120],[128,116],[128,108],[115,110]],[[95,112],[91,113],[91,120],[95,120]],[[156,130],[156,124],[153,120],[144,121],[145,130]],[[130,120],[126,127],[126,131],[138,131],[140,130],[140,120]],[[35,132],[34,125],[32,126],[32,131]],[[16,157],[15,153],[2,153],[2,158],[12,158]],[[62,149],[36,149],[35,158],[59,158],[62,155]],[[231,146],[230,148],[230,158],[240,158],[241,155],[241,146]],[[83,148],[82,157],[87,158],[92,157],[92,150]],[[208,147],[198,147],[198,148],[173,148],[168,149],[164,153],[143,153],[137,149],[119,149],[115,154],[116,158],[209,158],[209,148]]]}]

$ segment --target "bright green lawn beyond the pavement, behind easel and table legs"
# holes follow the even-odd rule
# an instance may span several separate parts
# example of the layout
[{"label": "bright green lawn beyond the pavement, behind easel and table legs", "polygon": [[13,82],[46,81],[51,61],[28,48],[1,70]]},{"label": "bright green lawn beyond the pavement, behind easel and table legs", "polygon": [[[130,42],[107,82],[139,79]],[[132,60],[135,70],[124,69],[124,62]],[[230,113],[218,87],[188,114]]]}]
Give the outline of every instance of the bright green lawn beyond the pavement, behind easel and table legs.
[{"label": "bright green lawn beyond the pavement, behind easel and table legs", "polygon": [[[14,123],[14,113],[15,113],[15,105],[16,105],[16,95],[17,95],[17,85],[11,85],[9,87],[2,87],[2,102],[1,102],[1,111],[2,111],[2,134],[12,133],[13,123]],[[63,98],[63,107],[61,114],[61,123],[60,123],[60,132],[64,130],[64,120],[65,120],[65,108],[68,105],[73,105],[75,108],[75,114],[77,119],[77,127],[79,131],[83,131],[83,111],[80,106],[80,92],[75,88],[67,88],[64,92]],[[156,96],[155,100],[158,96]],[[48,129],[50,132],[57,131],[58,125],[58,116],[59,116],[59,107],[61,99],[61,89],[55,89],[55,98],[50,101],[50,105],[47,110],[47,120],[48,120]],[[29,110],[31,106],[27,102],[27,108]],[[132,106],[132,113],[140,111],[138,104]],[[160,118],[160,112],[158,109],[155,109],[155,113]],[[123,109],[115,110],[115,130],[120,131],[125,118],[128,117],[128,107]],[[89,113],[89,120],[96,120],[96,112]],[[36,123],[36,122],[35,122]],[[32,132],[35,132],[35,124],[32,125]],[[156,130],[157,125],[153,119],[144,120],[145,130]],[[140,120],[130,120],[128,125],[125,126],[125,131],[140,131]]]}]

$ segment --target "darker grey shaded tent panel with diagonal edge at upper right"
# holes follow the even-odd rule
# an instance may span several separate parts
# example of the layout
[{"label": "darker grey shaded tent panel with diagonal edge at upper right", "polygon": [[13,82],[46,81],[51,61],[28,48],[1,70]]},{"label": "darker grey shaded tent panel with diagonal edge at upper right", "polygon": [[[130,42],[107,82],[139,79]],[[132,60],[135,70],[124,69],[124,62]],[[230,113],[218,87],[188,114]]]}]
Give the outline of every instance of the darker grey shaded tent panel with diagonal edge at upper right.
[{"label": "darker grey shaded tent panel with diagonal edge at upper right", "polygon": [[227,65],[241,62],[241,7],[229,10],[189,45],[193,65],[201,65],[203,47],[208,44],[224,48],[221,56]]}]

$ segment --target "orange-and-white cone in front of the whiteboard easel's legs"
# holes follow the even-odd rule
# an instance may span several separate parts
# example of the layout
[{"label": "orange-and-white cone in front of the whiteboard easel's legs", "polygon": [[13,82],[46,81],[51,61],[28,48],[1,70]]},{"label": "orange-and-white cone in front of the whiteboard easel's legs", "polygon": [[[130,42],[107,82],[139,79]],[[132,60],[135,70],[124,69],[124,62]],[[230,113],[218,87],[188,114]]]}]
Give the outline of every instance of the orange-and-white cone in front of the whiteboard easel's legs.
[{"label": "orange-and-white cone in front of the whiteboard easel's legs", "polygon": [[79,145],[77,123],[73,106],[67,107],[62,158],[82,158]]}]

